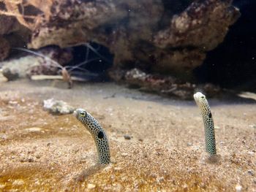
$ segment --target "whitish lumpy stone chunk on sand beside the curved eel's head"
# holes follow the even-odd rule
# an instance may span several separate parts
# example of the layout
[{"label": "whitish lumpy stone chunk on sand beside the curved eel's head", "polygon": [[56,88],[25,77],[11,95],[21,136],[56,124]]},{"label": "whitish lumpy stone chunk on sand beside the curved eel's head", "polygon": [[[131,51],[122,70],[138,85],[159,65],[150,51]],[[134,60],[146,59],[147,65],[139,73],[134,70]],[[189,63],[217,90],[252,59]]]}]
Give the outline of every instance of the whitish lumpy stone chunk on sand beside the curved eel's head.
[{"label": "whitish lumpy stone chunk on sand beside the curved eel's head", "polygon": [[75,108],[71,107],[64,101],[47,99],[44,100],[44,110],[48,110],[50,113],[55,115],[64,115],[74,112]]}]

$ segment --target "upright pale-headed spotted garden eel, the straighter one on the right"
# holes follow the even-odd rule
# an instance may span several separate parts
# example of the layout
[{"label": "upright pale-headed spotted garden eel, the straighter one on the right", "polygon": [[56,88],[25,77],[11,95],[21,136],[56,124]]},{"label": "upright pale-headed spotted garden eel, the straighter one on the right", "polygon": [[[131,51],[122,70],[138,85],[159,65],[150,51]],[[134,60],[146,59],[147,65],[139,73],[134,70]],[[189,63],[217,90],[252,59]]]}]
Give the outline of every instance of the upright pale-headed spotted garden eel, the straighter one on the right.
[{"label": "upright pale-headed spotted garden eel, the straighter one on the right", "polygon": [[215,134],[214,134],[214,120],[211,115],[211,109],[203,93],[197,92],[194,94],[195,102],[200,109],[203,116],[203,123],[205,127],[205,139],[206,139],[206,152],[211,156],[217,154]]}]

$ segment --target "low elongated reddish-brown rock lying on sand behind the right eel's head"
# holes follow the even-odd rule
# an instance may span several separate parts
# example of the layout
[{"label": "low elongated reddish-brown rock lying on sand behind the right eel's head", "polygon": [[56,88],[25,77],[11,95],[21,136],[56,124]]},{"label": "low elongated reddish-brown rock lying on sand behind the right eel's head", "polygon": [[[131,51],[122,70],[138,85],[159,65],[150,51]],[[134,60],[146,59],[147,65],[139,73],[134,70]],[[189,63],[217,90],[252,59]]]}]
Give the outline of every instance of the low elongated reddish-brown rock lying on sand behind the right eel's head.
[{"label": "low elongated reddish-brown rock lying on sand behind the right eel's head", "polygon": [[127,82],[132,87],[140,88],[143,91],[175,96],[178,99],[192,99],[193,93],[197,90],[203,91],[208,97],[218,96],[222,91],[218,86],[209,83],[196,86],[171,76],[146,74],[146,72],[136,68],[128,71],[121,70],[119,74],[110,72],[110,77],[118,78],[119,82]]}]

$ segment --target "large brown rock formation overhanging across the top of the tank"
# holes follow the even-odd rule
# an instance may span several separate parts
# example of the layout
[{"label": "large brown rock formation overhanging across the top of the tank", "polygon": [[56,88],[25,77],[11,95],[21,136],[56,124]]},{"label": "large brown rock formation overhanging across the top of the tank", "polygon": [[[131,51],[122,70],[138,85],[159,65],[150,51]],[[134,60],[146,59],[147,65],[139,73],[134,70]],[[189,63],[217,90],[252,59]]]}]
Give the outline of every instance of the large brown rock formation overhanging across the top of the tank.
[{"label": "large brown rock formation overhanging across the top of the tank", "polygon": [[[115,55],[113,71],[134,67],[190,79],[221,43],[239,11],[230,0],[3,1],[29,28],[29,47],[94,41]],[[20,17],[18,7],[31,15]],[[186,9],[187,7],[187,9]],[[0,7],[1,8],[1,7]],[[3,12],[1,14],[4,15]],[[8,15],[8,14],[6,14]],[[29,20],[25,19],[29,17]]]}]

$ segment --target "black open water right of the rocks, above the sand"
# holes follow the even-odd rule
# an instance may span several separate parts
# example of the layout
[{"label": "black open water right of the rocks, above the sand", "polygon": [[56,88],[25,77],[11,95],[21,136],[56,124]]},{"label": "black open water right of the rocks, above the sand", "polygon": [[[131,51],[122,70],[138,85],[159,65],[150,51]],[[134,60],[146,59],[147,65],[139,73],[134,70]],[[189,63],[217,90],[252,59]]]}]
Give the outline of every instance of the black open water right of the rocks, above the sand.
[{"label": "black open water right of the rocks, above the sand", "polygon": [[240,9],[241,17],[195,74],[200,82],[256,91],[256,1],[235,0],[233,4]]}]

